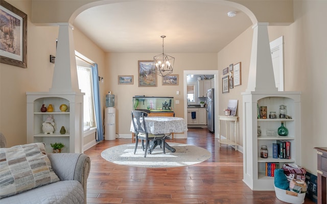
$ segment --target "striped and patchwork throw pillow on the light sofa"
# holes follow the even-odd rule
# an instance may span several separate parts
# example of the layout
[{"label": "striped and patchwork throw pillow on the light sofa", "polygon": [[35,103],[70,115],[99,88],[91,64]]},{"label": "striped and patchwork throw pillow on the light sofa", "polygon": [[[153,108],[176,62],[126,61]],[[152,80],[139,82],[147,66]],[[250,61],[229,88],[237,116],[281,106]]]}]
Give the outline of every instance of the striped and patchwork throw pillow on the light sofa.
[{"label": "striped and patchwork throw pillow on the light sofa", "polygon": [[0,199],[57,181],[44,143],[0,148]]}]

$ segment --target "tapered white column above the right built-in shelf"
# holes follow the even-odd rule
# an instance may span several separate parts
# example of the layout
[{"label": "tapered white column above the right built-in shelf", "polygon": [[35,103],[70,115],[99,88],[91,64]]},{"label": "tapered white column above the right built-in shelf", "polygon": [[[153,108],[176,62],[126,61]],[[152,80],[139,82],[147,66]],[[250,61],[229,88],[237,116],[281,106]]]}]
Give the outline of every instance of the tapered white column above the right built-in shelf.
[{"label": "tapered white column above the right built-in shelf", "polygon": [[246,91],[278,91],[270,53],[268,23],[253,25],[249,79]]}]

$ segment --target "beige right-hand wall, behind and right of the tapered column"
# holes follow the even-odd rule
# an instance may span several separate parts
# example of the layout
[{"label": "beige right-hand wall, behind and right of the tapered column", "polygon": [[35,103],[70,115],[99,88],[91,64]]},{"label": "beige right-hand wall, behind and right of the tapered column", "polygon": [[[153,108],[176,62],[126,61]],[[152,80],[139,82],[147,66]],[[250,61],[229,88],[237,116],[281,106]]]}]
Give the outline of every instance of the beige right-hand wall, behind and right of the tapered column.
[{"label": "beige right-hand wall, behind and right of the tapered column", "polygon": [[[327,40],[324,19],[327,18],[326,1],[295,1],[294,20],[289,26],[268,27],[269,41],[284,36],[285,91],[301,92],[301,165],[316,174],[317,159],[314,147],[327,146],[325,116],[327,108]],[[249,57],[252,41],[249,28],[218,54],[218,69],[229,63],[242,61],[242,86],[220,95],[220,109],[228,99],[239,99],[240,135],[242,140],[242,96],[247,87]],[[221,75],[222,77],[222,75]],[[221,83],[221,79],[220,82]],[[242,141],[240,141],[242,144]]]}]

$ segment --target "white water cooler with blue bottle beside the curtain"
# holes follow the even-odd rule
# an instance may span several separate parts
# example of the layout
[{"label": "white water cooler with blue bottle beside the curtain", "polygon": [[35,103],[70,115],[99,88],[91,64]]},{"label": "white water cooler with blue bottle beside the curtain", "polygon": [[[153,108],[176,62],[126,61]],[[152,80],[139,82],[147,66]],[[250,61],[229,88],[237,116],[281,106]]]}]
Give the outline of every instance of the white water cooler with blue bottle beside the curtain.
[{"label": "white water cooler with blue bottle beside the curtain", "polygon": [[104,139],[114,140],[116,139],[116,109],[114,107],[114,95],[106,95],[106,110],[104,118]]}]

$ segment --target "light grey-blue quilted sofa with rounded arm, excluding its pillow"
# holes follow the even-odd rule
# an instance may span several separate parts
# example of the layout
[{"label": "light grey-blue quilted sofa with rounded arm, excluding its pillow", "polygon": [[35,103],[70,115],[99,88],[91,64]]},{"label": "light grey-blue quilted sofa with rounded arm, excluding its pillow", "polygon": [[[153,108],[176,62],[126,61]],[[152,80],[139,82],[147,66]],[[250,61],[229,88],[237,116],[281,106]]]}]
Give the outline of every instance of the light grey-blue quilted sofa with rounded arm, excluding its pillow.
[{"label": "light grey-blue quilted sofa with rounded arm, excluding its pillow", "polygon": [[[2,135],[0,147],[5,146],[6,140]],[[90,171],[90,158],[85,154],[74,153],[47,155],[60,181],[2,198],[1,204],[86,203],[86,181]]]}]

